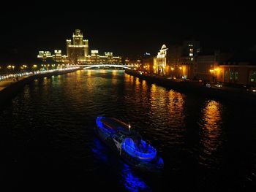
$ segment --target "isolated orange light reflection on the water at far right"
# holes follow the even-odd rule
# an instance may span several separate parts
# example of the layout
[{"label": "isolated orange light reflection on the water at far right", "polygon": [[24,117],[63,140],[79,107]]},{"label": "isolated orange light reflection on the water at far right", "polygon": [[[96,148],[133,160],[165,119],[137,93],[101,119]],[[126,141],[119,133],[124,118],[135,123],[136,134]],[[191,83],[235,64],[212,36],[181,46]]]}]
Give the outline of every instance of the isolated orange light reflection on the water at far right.
[{"label": "isolated orange light reflection on the water at far right", "polygon": [[200,134],[200,143],[203,145],[202,155],[200,155],[200,163],[210,164],[212,161],[212,153],[217,151],[217,148],[222,145],[222,105],[217,101],[206,101],[206,106],[202,110],[202,119],[200,126],[202,133]]}]

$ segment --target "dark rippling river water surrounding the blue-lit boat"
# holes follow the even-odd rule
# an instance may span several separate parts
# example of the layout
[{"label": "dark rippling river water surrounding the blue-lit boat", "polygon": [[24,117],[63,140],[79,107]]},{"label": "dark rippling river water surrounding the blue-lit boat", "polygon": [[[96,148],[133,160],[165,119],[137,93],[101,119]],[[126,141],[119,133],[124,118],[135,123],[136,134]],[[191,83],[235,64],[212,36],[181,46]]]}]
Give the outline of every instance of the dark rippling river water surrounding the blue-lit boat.
[{"label": "dark rippling river water surrounding the blue-lit boat", "polygon": [[[0,111],[1,183],[17,191],[254,191],[255,112],[123,71],[35,80]],[[99,115],[135,126],[165,161],[162,175],[137,172],[102,145],[93,131]]]}]

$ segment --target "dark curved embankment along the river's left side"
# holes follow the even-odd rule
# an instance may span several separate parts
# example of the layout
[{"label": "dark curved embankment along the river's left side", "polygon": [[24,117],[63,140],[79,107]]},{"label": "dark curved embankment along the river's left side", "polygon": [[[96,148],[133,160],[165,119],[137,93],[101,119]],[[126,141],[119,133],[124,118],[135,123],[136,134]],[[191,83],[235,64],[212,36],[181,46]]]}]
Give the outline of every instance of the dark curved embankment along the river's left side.
[{"label": "dark curved embankment along the river's left side", "polygon": [[51,77],[59,74],[67,74],[70,72],[75,72],[77,70],[80,70],[80,68],[75,69],[68,69],[68,70],[62,70],[62,71],[56,71],[56,72],[48,72],[48,73],[40,73],[40,74],[32,74],[29,76],[20,77],[19,80],[13,81],[11,79],[4,80],[0,82],[0,104],[4,104],[4,102],[7,101],[7,99],[12,98],[15,96],[18,91],[20,91],[24,85],[29,84],[33,80],[38,80],[43,77]]}]

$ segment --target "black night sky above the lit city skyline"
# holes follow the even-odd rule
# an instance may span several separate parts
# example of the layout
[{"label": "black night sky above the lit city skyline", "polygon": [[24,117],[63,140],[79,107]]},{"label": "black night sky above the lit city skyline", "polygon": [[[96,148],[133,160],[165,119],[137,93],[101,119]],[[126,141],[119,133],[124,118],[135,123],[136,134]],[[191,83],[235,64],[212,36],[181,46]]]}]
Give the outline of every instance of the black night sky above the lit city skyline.
[{"label": "black night sky above the lit city skyline", "polygon": [[163,12],[1,12],[0,57],[15,53],[33,60],[39,50],[66,53],[66,39],[71,39],[75,28],[89,39],[90,50],[131,57],[145,52],[156,55],[163,43],[170,46],[184,39],[199,40],[205,49],[255,46],[253,9],[219,7],[170,7]]}]

